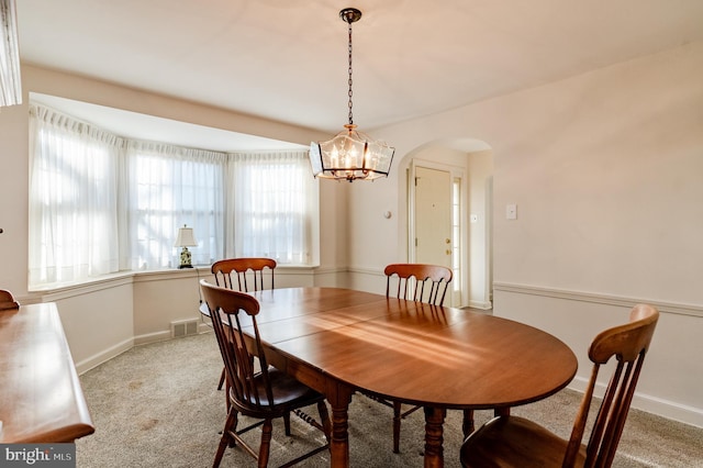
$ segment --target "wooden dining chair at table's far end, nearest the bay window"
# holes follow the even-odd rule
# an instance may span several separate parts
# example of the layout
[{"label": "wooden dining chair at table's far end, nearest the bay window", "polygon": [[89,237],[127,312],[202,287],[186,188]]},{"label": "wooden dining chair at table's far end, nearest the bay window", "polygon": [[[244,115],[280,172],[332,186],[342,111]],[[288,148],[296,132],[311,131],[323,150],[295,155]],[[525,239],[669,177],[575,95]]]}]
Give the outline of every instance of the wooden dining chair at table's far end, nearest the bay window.
[{"label": "wooden dining chair at table's far end, nearest the bay window", "polygon": [[[241,292],[274,289],[276,260],[265,257],[239,257],[217,260],[210,267],[215,283],[223,288]],[[265,281],[268,278],[268,281]],[[224,385],[224,369],[220,375],[217,390]]]}]

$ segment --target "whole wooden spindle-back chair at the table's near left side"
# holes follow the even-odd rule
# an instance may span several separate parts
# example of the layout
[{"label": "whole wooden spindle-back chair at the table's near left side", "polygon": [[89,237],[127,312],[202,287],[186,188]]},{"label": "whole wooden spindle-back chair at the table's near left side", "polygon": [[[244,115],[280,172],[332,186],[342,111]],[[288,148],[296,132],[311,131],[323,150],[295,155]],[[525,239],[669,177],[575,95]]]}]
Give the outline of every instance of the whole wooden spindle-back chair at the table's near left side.
[{"label": "whole wooden spindle-back chair at the table's near left side", "polygon": [[[297,464],[327,449],[332,424],[325,398],[286,372],[268,366],[256,321],[259,312],[258,301],[249,294],[221,288],[205,280],[200,281],[200,288],[210,311],[230,383],[227,388],[231,405],[213,467],[220,466],[226,447],[236,444],[257,459],[259,467],[266,467],[272,436],[272,420],[284,417],[291,412],[322,431],[326,443],[284,466]],[[243,327],[247,328],[246,334]],[[257,357],[260,364],[258,370],[254,366],[254,357]],[[312,404],[317,405],[320,422],[302,411]],[[237,430],[241,414],[259,421]],[[261,441],[258,450],[255,450],[241,435],[258,426],[261,426]],[[286,434],[290,435],[289,427]]]}]

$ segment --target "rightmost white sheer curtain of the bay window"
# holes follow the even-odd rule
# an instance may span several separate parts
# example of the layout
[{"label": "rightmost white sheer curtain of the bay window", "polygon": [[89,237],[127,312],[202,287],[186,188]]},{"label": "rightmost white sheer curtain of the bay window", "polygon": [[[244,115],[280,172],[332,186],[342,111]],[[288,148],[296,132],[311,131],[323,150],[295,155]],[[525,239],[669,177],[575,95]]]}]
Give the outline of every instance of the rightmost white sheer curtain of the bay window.
[{"label": "rightmost white sheer curtain of the bay window", "polygon": [[231,154],[227,174],[226,255],[309,264],[315,179],[308,153]]}]

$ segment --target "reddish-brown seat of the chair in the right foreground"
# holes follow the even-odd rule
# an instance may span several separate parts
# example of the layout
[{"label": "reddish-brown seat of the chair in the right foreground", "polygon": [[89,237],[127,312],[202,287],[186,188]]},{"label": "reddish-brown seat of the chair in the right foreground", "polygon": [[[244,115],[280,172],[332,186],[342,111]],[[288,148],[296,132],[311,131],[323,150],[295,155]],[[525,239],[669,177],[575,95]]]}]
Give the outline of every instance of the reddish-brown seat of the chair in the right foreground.
[{"label": "reddish-brown seat of the chair in the right foreground", "polygon": [[[568,441],[520,416],[498,416],[467,437],[461,446],[465,467],[561,467]],[[574,466],[585,460],[585,447]]]}]

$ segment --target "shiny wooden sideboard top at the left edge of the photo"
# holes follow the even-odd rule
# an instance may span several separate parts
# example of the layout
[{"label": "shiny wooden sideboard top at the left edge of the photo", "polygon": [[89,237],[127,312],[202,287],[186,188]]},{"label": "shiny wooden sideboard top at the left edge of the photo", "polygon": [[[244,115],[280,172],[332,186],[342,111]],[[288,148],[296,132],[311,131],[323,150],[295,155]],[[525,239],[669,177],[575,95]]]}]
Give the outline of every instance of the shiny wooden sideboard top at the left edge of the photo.
[{"label": "shiny wooden sideboard top at the left edge of the photo", "polygon": [[0,311],[0,444],[65,443],[92,434],[54,303]]}]

